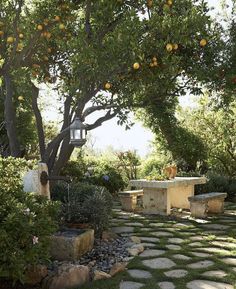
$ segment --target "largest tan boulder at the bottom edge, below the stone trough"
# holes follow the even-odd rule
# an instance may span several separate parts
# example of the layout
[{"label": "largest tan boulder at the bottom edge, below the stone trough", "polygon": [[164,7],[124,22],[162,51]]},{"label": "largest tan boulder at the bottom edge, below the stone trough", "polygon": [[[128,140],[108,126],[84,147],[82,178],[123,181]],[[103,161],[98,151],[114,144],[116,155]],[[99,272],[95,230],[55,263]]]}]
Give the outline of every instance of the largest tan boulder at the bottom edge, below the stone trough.
[{"label": "largest tan boulder at the bottom edge, below the stone trough", "polygon": [[43,289],[72,289],[89,281],[89,268],[82,265],[64,264],[55,275],[48,276]]}]

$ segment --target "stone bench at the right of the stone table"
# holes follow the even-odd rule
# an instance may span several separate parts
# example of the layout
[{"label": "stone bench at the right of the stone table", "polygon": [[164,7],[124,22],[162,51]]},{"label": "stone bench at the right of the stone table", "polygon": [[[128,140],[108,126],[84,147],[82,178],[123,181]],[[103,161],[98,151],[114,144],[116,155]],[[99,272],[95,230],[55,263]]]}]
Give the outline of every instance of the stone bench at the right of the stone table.
[{"label": "stone bench at the right of the stone table", "polygon": [[191,215],[206,217],[207,213],[223,213],[227,193],[208,193],[189,197]]}]

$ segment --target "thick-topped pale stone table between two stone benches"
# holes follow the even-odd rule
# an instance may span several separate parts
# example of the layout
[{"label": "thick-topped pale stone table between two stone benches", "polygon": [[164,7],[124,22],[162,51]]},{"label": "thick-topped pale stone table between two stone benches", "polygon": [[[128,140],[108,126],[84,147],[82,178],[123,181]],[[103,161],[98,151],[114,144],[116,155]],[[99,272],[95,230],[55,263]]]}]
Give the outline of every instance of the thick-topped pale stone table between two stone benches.
[{"label": "thick-topped pale stone table between two stone benches", "polygon": [[130,180],[130,186],[143,188],[143,212],[169,215],[170,209],[189,209],[188,197],[194,196],[194,186],[205,184],[205,177],[176,177],[165,181]]}]

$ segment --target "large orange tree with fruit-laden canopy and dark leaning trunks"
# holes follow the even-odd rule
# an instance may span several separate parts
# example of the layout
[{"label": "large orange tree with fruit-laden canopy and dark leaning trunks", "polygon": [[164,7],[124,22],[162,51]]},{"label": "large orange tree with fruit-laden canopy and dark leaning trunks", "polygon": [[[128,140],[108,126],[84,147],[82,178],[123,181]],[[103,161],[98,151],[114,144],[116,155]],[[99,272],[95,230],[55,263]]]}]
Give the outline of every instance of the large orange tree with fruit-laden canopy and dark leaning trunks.
[{"label": "large orange tree with fruit-laden canopy and dark leaning trunks", "polygon": [[[10,5],[7,3],[3,7]],[[41,159],[54,174],[73,151],[69,125],[75,117],[87,121],[93,112],[104,111],[94,123],[87,124],[88,130],[114,116],[129,126],[128,111],[145,108],[150,124],[166,128],[171,140],[168,128],[175,122],[178,96],[189,89],[198,93],[199,82],[209,83],[212,89],[219,85],[221,63],[216,59],[222,51],[221,31],[207,16],[204,1],[33,1],[29,13],[27,9],[21,13],[18,6],[9,7],[14,13],[6,13],[11,15],[11,25],[5,27],[14,29],[13,23],[24,19],[29,35],[18,53],[20,25],[13,31],[7,28],[1,36],[7,48],[4,51],[10,55],[7,59],[3,55],[1,74],[11,154],[17,155],[19,146],[16,120],[7,118],[7,112],[10,110],[9,116],[14,111],[9,101],[9,77],[13,68],[26,67],[26,82],[33,77],[37,83],[57,80],[55,86],[64,102],[61,131],[45,144],[37,106],[39,89],[34,81],[31,97]],[[8,43],[10,34],[13,43]]]}]

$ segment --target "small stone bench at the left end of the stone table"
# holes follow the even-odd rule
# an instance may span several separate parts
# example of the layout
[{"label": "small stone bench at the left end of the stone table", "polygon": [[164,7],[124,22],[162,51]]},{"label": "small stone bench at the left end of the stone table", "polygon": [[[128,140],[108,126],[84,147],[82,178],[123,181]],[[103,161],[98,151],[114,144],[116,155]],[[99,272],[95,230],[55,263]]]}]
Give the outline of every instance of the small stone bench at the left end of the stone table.
[{"label": "small stone bench at the left end of the stone table", "polygon": [[124,191],[119,193],[124,211],[132,212],[137,207],[137,198],[143,196],[143,190]]}]

